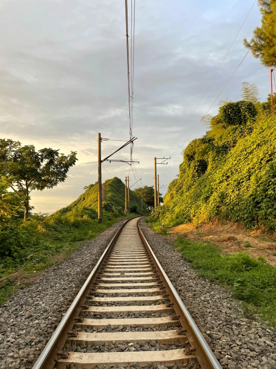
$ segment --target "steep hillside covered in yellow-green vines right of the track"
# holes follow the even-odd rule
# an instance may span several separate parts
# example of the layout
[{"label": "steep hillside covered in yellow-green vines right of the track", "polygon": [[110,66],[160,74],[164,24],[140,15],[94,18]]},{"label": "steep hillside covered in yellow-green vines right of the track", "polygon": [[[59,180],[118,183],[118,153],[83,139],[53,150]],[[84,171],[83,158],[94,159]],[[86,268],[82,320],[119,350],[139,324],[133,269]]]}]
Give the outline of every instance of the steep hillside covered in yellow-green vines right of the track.
[{"label": "steep hillside covered in yellow-green vines right of the track", "polygon": [[216,218],[276,230],[276,117],[262,104],[220,107],[205,136],[183,151],[156,216],[167,225]]}]

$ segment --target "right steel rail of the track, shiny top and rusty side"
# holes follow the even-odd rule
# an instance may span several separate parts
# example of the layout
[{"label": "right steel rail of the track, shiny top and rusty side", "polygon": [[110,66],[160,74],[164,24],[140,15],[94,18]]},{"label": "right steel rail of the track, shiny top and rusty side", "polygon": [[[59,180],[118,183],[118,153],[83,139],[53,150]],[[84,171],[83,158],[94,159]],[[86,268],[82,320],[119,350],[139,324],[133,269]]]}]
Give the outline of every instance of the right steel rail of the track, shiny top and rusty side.
[{"label": "right steel rail of the track, shiny top and rusty side", "polygon": [[182,324],[182,327],[187,330],[186,335],[190,342],[190,344],[195,349],[196,358],[201,366],[202,369],[222,369],[219,362],[217,361],[214,353],[210,349],[209,345],[207,344],[206,340],[204,339],[202,333],[198,329],[197,325],[195,324],[193,318],[191,317],[190,313],[188,312],[186,306],[183,304],[183,301],[180,299],[178,293],[176,292],[175,288],[173,287],[172,283],[170,282],[168,276],[166,275],[164,269],[162,268],[161,264],[157,260],[154,252],[152,251],[151,247],[149,246],[142,230],[139,227],[139,220],[137,222],[138,232],[146,245],[155,266],[157,267],[160,279],[164,283],[166,288],[166,293],[169,294],[169,299],[172,300],[171,302],[174,304],[173,308],[176,314],[179,315],[179,321]]}]

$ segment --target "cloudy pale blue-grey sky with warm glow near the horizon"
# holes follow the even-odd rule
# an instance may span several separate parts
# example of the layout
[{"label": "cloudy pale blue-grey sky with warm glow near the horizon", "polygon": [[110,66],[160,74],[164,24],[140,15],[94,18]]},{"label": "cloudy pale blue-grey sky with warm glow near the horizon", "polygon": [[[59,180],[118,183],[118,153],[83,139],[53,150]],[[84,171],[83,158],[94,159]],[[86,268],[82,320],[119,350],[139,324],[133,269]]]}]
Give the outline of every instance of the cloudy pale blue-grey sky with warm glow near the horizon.
[{"label": "cloudy pale blue-grey sky with warm glow near the horizon", "polygon": [[[261,23],[255,4],[191,117],[253,2],[136,0],[133,159],[139,164],[133,173],[126,163],[105,162],[103,181],[130,175],[130,185],[136,177],[152,186],[154,156],[172,157],[158,165],[160,186],[175,178],[182,149],[204,135],[200,118],[247,53],[243,38]],[[0,54],[0,137],[77,151],[64,183],[31,193],[34,212],[52,213],[98,180],[98,132],[129,139],[125,1],[0,0]],[[269,69],[249,53],[211,115],[220,99],[240,99],[243,81],[257,84],[266,100]],[[121,144],[104,141],[102,157]],[[129,155],[127,147],[113,158]]]}]

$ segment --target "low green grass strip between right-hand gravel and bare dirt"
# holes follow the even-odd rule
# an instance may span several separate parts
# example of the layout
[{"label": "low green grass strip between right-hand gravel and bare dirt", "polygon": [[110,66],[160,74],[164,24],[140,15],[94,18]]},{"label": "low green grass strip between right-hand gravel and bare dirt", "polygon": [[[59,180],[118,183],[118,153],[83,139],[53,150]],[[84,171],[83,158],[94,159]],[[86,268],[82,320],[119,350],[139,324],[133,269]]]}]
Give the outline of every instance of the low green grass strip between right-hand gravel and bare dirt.
[{"label": "low green grass strip between right-hand gravel and bare dirt", "polygon": [[[156,233],[166,235],[161,221],[145,220]],[[222,254],[219,247],[178,236],[173,246],[191,263],[201,277],[228,287],[243,302],[246,317],[259,314],[276,328],[276,268],[265,259],[251,258],[245,252]]]}]

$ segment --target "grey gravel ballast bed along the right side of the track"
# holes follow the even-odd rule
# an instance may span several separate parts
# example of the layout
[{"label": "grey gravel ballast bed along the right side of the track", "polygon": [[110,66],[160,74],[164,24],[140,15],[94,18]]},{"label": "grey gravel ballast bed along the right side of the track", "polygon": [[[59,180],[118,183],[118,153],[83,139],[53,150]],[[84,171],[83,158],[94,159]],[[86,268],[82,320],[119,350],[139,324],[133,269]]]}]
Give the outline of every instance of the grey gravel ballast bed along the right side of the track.
[{"label": "grey gravel ballast bed along the right side of the track", "polygon": [[143,220],[140,228],[223,368],[276,368],[276,332],[246,319],[231,292],[197,275]]}]

